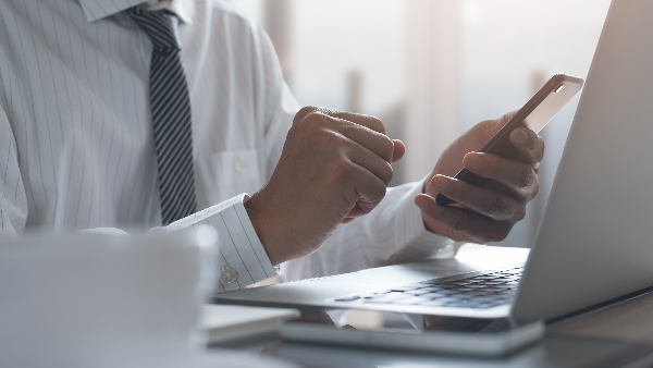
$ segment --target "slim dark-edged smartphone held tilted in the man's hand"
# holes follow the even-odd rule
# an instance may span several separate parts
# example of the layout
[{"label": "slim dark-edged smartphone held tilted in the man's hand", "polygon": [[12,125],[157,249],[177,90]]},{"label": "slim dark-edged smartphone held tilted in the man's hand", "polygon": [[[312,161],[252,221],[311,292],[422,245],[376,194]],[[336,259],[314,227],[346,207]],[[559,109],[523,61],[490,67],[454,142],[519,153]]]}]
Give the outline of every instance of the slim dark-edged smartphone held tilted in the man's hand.
[{"label": "slim dark-edged smartphone held tilted in the man's hand", "polygon": [[[555,114],[582,88],[583,79],[569,74],[554,75],[538,93],[519,109],[519,111],[479,150],[507,159],[516,159],[519,150],[509,139],[510,132],[516,127],[528,127],[539,133]],[[455,179],[469,184],[484,186],[490,180],[479,176],[467,169],[458,171]],[[440,206],[447,206],[456,201],[442,194],[435,196]]]}]

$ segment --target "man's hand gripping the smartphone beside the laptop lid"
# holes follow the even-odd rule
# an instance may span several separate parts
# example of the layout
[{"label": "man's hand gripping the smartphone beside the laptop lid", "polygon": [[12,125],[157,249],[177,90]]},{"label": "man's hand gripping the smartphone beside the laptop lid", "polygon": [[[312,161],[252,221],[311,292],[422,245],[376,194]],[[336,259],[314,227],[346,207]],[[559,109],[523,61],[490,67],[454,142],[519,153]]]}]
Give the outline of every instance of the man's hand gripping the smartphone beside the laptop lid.
[{"label": "man's hand gripping the smartphone beside the laptop lid", "polygon": [[[424,183],[426,194],[415,198],[424,224],[432,232],[457,242],[501,242],[515,223],[526,216],[526,205],[539,189],[538,168],[544,156],[544,142],[533,131],[518,127],[510,142],[519,150],[517,159],[476,152],[498,132],[515,112],[475,125],[456,139],[440,157]],[[460,164],[491,179],[488,186],[475,186],[453,179]],[[442,193],[458,204],[439,206]]]}]

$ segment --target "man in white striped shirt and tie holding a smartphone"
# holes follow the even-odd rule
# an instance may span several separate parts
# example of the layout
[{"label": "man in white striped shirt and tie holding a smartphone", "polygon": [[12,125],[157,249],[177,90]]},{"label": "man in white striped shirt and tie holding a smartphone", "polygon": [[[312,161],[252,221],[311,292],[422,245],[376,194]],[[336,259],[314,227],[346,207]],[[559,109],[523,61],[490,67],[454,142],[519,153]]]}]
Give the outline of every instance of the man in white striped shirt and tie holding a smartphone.
[{"label": "man in white striped shirt and tie holding a smartphone", "polygon": [[[509,115],[386,192],[403,144],[372,116],[299,109],[266,34],[225,2],[0,0],[0,17],[3,235],[206,222],[222,292],[282,262],[292,280],[452,256],[505,238],[538,192],[533,132],[512,133],[519,160],[472,152]],[[493,186],[449,177],[461,163]]]}]

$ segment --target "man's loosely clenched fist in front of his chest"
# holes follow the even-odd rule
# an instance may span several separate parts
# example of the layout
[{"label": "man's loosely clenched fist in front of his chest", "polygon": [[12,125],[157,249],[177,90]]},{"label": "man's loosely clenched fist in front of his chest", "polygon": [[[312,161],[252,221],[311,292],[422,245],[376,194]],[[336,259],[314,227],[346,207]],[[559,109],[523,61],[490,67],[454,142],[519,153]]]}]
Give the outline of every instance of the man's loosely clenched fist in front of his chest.
[{"label": "man's loosely clenched fist in front of his chest", "polygon": [[377,118],[299,110],[270,182],[245,203],[272,265],[315,252],[377,207],[404,152]]}]

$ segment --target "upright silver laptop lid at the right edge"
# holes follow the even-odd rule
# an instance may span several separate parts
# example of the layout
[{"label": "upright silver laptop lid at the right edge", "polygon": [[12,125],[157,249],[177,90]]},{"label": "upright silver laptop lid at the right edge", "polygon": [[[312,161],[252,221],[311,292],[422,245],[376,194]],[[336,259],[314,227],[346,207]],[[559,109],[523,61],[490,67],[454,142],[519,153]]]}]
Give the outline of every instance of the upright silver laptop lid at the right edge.
[{"label": "upright silver laptop lid at the right edge", "polygon": [[513,316],[653,285],[653,1],[613,1]]}]

